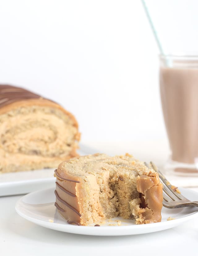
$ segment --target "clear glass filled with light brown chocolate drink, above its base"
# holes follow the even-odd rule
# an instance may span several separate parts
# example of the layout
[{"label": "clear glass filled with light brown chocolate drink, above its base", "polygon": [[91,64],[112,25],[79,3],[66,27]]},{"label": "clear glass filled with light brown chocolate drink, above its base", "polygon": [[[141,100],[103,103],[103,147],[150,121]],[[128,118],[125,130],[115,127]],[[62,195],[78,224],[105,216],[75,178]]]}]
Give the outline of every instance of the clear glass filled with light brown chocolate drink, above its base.
[{"label": "clear glass filled with light brown chocolate drink, above its base", "polygon": [[161,56],[160,92],[172,160],[198,159],[198,58]]}]

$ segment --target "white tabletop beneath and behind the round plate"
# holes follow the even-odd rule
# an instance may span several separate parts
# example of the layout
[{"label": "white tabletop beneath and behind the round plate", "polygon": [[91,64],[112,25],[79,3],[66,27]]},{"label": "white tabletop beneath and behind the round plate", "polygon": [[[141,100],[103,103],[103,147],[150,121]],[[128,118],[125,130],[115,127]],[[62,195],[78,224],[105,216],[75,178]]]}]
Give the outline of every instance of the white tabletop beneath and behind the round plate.
[{"label": "white tabletop beneath and behind the round plate", "polygon": [[[152,157],[158,165],[168,154],[164,142],[154,143],[152,150],[150,143],[145,142],[87,145],[87,149],[97,149],[95,152],[129,152],[146,161]],[[161,150],[159,145],[163,145]],[[198,191],[198,187],[191,189]],[[198,252],[197,217],[178,227],[143,235],[75,235],[46,229],[20,217],[15,212],[15,203],[21,196],[0,197],[0,255],[197,255]]]}]

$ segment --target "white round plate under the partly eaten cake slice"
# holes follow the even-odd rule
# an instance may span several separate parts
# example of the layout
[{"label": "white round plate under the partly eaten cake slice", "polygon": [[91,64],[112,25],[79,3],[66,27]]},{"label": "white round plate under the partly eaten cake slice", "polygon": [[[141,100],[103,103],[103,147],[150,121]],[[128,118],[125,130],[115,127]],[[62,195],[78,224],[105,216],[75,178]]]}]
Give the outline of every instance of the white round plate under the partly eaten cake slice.
[{"label": "white round plate under the partly eaten cake slice", "polygon": [[[188,189],[180,189],[180,191],[190,200],[198,200],[198,193]],[[105,221],[105,223],[100,224],[100,227],[94,227],[97,223],[93,223],[90,226],[77,226],[68,224],[62,218],[54,206],[54,202],[54,188],[45,189],[29,193],[19,199],[15,209],[20,216],[42,227],[62,232],[93,236],[124,236],[156,232],[173,228],[198,216],[197,207],[179,209],[167,209],[163,207],[161,212],[162,220],[159,223],[136,225],[133,220],[118,217],[110,221]],[[175,219],[167,221],[169,217]]]}]

